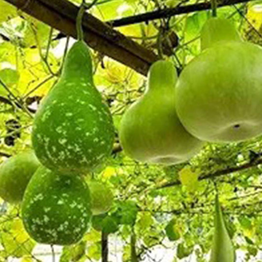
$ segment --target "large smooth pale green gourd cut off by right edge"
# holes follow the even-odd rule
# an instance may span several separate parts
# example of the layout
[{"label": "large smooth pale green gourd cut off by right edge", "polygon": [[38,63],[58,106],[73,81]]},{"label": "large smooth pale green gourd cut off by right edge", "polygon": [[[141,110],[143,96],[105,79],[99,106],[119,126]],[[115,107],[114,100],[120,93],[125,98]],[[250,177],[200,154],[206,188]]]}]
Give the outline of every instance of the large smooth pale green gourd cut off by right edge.
[{"label": "large smooth pale green gourd cut off by right edge", "polygon": [[209,19],[202,53],[184,68],[176,85],[177,114],[193,136],[236,142],[262,133],[262,48],[243,42],[233,25]]}]

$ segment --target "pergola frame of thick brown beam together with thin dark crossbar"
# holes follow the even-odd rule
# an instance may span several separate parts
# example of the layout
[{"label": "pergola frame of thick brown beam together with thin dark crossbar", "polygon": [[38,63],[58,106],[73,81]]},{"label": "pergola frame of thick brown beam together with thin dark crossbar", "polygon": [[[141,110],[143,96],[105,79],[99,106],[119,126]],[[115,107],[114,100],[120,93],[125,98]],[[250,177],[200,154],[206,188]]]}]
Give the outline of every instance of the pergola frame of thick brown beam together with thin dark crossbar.
[{"label": "pergola frame of thick brown beam together with thin dark crossbar", "polygon": [[[32,17],[42,21],[64,35],[76,37],[76,17],[79,7],[68,0],[5,0]],[[217,7],[247,2],[248,0],[218,0]],[[183,3],[183,4],[182,4]],[[211,2],[186,4],[182,1],[174,8],[164,8],[156,11],[121,18],[115,21],[103,22],[86,13],[83,18],[84,39],[87,44],[102,55],[113,58],[135,71],[146,75],[149,66],[158,59],[151,50],[115,30],[115,27],[150,20],[169,18],[211,8]]]}]

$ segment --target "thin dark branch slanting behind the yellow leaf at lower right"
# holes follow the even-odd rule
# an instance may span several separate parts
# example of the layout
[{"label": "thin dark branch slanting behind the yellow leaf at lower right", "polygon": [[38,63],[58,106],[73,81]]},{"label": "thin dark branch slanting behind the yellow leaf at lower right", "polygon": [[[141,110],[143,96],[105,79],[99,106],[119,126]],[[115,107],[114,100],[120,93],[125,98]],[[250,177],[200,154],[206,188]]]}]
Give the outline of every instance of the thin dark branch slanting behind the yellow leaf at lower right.
[{"label": "thin dark branch slanting behind the yellow leaf at lower right", "polygon": [[[259,164],[262,164],[262,158],[259,158],[255,161],[247,162],[246,164],[243,164],[241,166],[222,169],[222,170],[218,170],[214,173],[200,175],[198,180],[214,178],[214,177],[221,176],[221,175],[228,175],[228,174],[231,174],[231,173],[235,173],[237,171],[242,171],[242,170],[245,170],[245,169],[254,168],[254,167],[258,166]],[[180,184],[181,184],[181,182],[179,180],[176,180],[176,181],[173,181],[173,182],[165,183],[165,184],[157,187],[156,189],[172,187],[172,186],[176,186],[176,185],[180,185]]]}]

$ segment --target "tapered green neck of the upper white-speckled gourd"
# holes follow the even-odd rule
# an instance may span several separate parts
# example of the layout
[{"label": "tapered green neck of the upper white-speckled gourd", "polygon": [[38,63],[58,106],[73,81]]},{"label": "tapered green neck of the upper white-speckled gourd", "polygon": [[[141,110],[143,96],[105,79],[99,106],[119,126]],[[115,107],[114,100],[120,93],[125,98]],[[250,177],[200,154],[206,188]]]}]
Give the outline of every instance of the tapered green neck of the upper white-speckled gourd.
[{"label": "tapered green neck of the upper white-speckled gourd", "polygon": [[85,78],[93,82],[92,58],[84,41],[76,41],[67,53],[61,78]]}]

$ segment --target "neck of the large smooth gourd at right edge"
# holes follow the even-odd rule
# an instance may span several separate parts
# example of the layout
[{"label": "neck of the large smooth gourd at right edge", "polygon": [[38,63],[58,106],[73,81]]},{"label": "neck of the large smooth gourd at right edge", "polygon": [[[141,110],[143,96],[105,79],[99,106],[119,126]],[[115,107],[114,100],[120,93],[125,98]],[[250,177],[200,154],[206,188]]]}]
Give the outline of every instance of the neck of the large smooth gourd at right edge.
[{"label": "neck of the large smooth gourd at right edge", "polygon": [[220,41],[242,41],[233,24],[220,18],[210,18],[201,31],[201,50],[212,47]]}]

